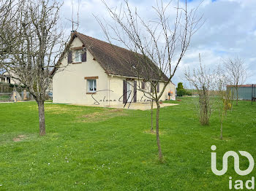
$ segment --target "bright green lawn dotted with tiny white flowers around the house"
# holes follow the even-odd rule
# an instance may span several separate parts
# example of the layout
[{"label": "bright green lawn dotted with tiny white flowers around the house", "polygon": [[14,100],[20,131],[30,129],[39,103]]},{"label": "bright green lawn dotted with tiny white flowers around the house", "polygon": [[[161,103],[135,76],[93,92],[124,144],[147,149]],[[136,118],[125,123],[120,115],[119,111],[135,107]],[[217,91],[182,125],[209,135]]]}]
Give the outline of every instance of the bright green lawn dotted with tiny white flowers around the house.
[{"label": "bright green lawn dotted with tiny white flowers around the house", "polygon": [[[0,104],[0,190],[228,190],[238,176],[233,159],[223,176],[211,172],[211,145],[218,168],[229,150],[256,160],[256,103],[240,101],[227,113],[224,141],[219,118],[197,119],[195,98],[161,109],[160,139],[165,163],[157,160],[150,111],[45,104],[46,136],[38,136],[35,102]],[[170,101],[170,103],[173,103]],[[246,158],[240,157],[241,169]]]}]

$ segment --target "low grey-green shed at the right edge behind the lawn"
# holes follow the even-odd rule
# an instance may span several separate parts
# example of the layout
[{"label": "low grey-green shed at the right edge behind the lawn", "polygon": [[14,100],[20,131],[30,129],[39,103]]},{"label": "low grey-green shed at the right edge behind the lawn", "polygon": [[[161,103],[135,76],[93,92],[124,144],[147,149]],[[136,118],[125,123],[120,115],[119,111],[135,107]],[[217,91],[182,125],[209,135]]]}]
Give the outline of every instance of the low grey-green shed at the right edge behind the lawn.
[{"label": "low grey-green shed at the right edge behind the lawn", "polygon": [[[233,98],[236,99],[236,87],[228,85],[227,90],[230,89],[233,93]],[[254,85],[238,85],[238,99],[240,100],[252,100],[256,98],[256,84]]]}]

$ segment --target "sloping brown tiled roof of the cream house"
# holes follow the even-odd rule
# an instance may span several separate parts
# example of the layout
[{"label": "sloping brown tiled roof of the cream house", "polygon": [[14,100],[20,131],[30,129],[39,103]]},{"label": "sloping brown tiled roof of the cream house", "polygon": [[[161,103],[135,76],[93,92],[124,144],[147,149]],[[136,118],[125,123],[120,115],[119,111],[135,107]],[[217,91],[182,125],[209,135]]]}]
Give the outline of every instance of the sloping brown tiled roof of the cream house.
[{"label": "sloping brown tiled roof of the cream house", "polygon": [[72,35],[80,39],[107,74],[143,79],[149,77],[165,81],[168,79],[149,58],[143,55],[78,32],[74,32]]}]

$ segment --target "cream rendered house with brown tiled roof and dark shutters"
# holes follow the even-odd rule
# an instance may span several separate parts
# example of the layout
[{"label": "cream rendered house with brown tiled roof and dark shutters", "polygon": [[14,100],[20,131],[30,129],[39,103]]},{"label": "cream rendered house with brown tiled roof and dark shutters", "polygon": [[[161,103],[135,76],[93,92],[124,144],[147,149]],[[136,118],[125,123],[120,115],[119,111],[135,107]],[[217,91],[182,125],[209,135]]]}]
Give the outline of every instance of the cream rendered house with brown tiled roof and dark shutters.
[{"label": "cream rendered house with brown tiled roof and dark shutters", "polygon": [[[143,76],[143,64],[136,53],[90,36],[73,32],[69,43],[53,69],[53,103],[113,106],[127,102],[148,102],[144,92],[151,91]],[[65,53],[66,52],[66,53]],[[121,55],[118,56],[118,53]],[[126,63],[123,58],[131,63]],[[152,66],[151,76],[157,78],[157,66]],[[140,77],[138,78],[138,69]],[[148,73],[147,73],[148,74]],[[162,79],[167,80],[165,74]],[[143,91],[138,90],[138,85]],[[159,82],[157,91],[164,82]],[[170,82],[161,100],[175,99],[176,87]]]}]

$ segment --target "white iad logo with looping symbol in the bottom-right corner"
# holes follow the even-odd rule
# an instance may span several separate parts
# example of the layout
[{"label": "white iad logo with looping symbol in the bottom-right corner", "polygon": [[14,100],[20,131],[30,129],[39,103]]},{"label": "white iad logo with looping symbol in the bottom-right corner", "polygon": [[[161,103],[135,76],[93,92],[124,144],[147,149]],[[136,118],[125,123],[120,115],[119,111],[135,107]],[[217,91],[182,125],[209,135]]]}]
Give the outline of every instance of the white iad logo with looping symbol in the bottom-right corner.
[{"label": "white iad logo with looping symbol in the bottom-right corner", "polygon": [[[211,146],[211,150],[215,151],[217,147],[215,145]],[[238,151],[240,155],[246,157],[249,160],[249,167],[241,171],[239,168],[239,155],[234,151],[228,151],[225,152],[222,159],[222,170],[217,170],[217,156],[216,152],[211,152],[211,171],[216,174],[217,176],[222,176],[227,172],[227,159],[228,157],[234,157],[234,169],[236,171],[236,174],[239,174],[241,176],[245,176],[247,174],[250,174],[255,166],[255,160],[253,159],[252,155],[249,154],[249,152],[246,151]],[[250,184],[250,185],[249,185]],[[255,177],[252,177],[252,180],[246,181],[246,189],[254,190],[255,189]],[[231,190],[232,187],[232,177],[230,176],[229,180],[229,189]],[[234,188],[236,190],[243,190],[244,189],[244,183],[241,180],[236,180]]]}]

